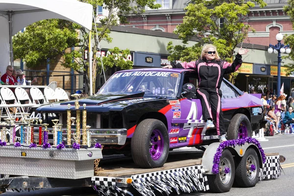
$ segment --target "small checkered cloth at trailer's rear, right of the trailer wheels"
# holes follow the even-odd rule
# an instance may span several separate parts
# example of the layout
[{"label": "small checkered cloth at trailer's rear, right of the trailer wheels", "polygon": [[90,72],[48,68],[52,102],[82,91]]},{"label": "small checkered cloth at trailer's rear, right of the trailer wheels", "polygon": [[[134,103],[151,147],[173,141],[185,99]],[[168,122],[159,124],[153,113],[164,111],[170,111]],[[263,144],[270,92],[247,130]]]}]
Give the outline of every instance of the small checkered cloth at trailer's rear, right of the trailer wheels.
[{"label": "small checkered cloth at trailer's rear, right of the trailer wheels", "polygon": [[259,180],[275,179],[281,175],[281,166],[279,155],[267,156],[266,163],[263,164],[263,169],[259,172]]}]

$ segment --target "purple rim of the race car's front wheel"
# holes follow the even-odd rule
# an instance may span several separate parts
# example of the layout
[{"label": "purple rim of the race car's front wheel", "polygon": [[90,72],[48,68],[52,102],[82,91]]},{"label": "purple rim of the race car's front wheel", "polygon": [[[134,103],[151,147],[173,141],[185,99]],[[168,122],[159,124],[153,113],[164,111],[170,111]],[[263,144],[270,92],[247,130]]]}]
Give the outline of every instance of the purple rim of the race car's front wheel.
[{"label": "purple rim of the race car's front wheel", "polygon": [[153,130],[149,140],[149,152],[151,158],[154,161],[158,160],[161,157],[163,147],[164,141],[162,133],[158,129]]}]

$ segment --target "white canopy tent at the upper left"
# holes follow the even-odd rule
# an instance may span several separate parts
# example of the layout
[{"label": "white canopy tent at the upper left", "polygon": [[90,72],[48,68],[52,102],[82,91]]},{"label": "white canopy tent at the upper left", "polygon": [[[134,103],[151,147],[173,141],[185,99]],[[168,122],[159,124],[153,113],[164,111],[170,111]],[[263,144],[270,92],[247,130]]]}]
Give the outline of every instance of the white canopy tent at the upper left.
[{"label": "white canopy tent at the upper left", "polygon": [[91,4],[78,0],[0,0],[0,72],[5,73],[7,65],[13,65],[12,36],[27,25],[64,19],[91,30],[92,13]]}]

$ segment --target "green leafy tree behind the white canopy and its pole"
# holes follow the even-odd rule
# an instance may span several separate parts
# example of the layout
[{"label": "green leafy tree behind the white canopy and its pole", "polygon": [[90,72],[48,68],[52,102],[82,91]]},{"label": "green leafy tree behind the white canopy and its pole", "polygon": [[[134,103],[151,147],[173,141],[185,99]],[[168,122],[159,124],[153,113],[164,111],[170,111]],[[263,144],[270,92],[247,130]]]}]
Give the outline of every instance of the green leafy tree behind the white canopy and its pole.
[{"label": "green leafy tree behind the white canopy and its pole", "polygon": [[[93,47],[93,89],[97,73],[101,71],[101,62],[97,56],[98,43],[102,40],[111,42],[111,27],[121,23],[127,23],[127,16],[141,15],[145,7],[151,9],[159,8],[156,0],[80,0],[93,5],[94,15],[97,16],[97,7],[109,11],[108,16],[99,21],[97,33],[93,19],[92,40]],[[80,37],[76,29],[79,30]],[[90,88],[89,63],[81,58],[85,55],[85,49],[89,48],[89,31],[84,27],[73,24],[69,21],[51,19],[44,20],[26,27],[23,33],[18,33],[13,38],[14,57],[22,58],[28,67],[34,68],[45,64],[49,59],[56,62],[63,57],[62,65],[66,68],[73,68],[78,73],[84,73],[86,85]],[[67,48],[77,47],[75,50],[67,51]],[[91,47],[91,46],[90,46]],[[107,57],[102,58],[104,68],[113,66],[121,69],[132,68],[132,63],[126,61],[125,57],[129,50],[111,49]],[[88,53],[89,56],[89,53]]]}]

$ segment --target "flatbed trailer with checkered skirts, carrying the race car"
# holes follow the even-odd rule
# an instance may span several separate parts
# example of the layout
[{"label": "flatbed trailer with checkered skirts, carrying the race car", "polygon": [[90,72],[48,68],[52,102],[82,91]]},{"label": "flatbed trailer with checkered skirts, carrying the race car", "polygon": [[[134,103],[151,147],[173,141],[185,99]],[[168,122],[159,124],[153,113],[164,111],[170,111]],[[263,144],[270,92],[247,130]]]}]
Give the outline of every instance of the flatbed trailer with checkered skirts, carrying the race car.
[{"label": "flatbed trailer with checkered skirts, carrying the race car", "polygon": [[[224,188],[212,187],[214,184],[219,183],[219,177],[223,175],[212,173],[215,156],[211,154],[216,154],[215,152],[219,145],[220,143],[214,143],[210,145],[205,152],[183,150],[172,151],[169,154],[167,163],[161,168],[138,168],[133,163],[131,157],[112,155],[108,158],[105,157],[105,159],[101,159],[99,165],[96,166],[98,171],[95,171],[92,177],[64,179],[61,177],[1,175],[0,189],[2,192],[5,192],[7,189],[22,191],[40,188],[93,187],[98,192],[98,195],[109,196],[116,194],[125,196],[157,196],[161,194],[170,195],[173,193],[180,195],[182,193],[205,191],[226,192],[229,191],[231,185],[229,185],[228,189],[226,189],[225,186]],[[238,177],[237,174],[235,174],[235,170],[237,171],[238,168],[237,165],[242,161],[241,156],[246,156],[246,151],[251,151],[250,148],[251,150],[256,149],[256,146],[245,144],[224,148],[232,151],[236,169],[231,165],[230,167],[234,171],[226,173],[225,176],[227,175],[229,178],[223,182],[234,181],[234,176],[236,180]],[[224,151],[225,150],[223,150],[223,152]],[[238,156],[237,153],[242,151],[242,155],[240,156],[239,154]],[[262,153],[258,154],[258,160],[256,160],[261,164],[259,165],[254,162],[256,166],[260,166],[259,170],[255,170],[255,172],[258,171],[258,173],[256,173],[256,175],[258,175],[256,181],[278,178],[281,175],[280,161],[283,162],[285,158],[278,153],[266,153],[264,154],[265,162],[262,163],[261,154]],[[224,159],[221,158],[220,163],[222,163],[222,160],[226,160],[223,153],[222,157],[224,157]],[[1,171],[1,173],[3,172]],[[231,175],[229,175],[230,173]],[[214,178],[215,176],[218,177]],[[224,179],[226,179],[226,177]],[[252,184],[252,186],[255,186],[255,184]]]}]

